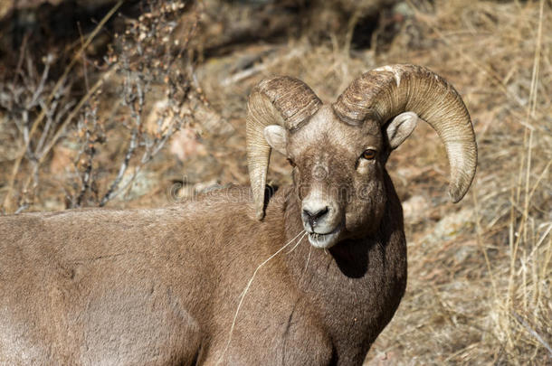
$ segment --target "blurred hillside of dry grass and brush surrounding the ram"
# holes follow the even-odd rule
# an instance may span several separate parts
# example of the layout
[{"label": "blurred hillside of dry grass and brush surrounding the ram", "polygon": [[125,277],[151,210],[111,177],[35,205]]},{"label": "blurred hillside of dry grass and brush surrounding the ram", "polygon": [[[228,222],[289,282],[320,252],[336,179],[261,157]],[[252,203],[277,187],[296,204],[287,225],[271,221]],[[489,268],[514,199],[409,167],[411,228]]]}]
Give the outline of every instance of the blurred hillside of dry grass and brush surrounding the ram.
[{"label": "blurred hillside of dry grass and brush surrounding the ram", "polygon": [[[165,205],[248,183],[245,103],[272,74],[333,100],[425,65],[460,91],[475,182],[447,201],[420,126],[388,169],[409,283],[369,365],[552,364],[552,2],[0,0],[0,210]],[[271,180],[289,183],[276,156]],[[254,316],[254,314],[251,314]]]}]

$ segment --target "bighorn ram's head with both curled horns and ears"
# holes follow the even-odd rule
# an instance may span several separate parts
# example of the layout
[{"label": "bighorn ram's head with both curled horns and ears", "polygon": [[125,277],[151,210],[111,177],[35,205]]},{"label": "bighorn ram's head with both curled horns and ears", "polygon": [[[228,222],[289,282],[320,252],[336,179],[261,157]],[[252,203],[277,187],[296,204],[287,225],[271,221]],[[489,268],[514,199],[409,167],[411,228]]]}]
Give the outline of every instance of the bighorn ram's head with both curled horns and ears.
[{"label": "bighorn ram's head with both curled horns and ears", "polygon": [[331,105],[302,81],[263,80],[248,104],[247,155],[256,217],[264,215],[271,148],[286,155],[310,243],[330,248],[376,230],[385,211],[385,162],[418,119],[445,145],[449,193],[470,187],[477,146],[470,115],[455,89],[430,70],[392,65],[354,80]]}]

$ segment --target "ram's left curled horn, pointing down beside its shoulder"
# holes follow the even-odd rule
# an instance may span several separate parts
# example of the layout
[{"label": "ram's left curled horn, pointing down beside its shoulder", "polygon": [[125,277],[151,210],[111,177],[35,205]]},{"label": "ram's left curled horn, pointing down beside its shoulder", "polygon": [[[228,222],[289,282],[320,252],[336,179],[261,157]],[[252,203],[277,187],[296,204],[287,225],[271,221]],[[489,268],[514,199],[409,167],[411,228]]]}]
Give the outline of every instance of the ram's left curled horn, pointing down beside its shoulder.
[{"label": "ram's left curled horn, pointing down beside its shoulder", "polygon": [[290,131],[299,129],[321,105],[309,86],[290,77],[262,80],[252,90],[247,104],[247,166],[258,220],[264,216],[264,187],[271,155],[264,128],[280,125]]}]

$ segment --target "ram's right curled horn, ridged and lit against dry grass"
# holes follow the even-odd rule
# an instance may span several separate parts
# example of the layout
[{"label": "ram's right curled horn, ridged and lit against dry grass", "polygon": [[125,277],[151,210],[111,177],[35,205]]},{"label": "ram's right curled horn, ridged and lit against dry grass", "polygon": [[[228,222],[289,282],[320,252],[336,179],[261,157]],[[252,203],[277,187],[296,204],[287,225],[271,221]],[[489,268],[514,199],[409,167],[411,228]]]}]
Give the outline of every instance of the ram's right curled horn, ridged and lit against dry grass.
[{"label": "ram's right curled horn, ridged and lit against dry grass", "polygon": [[368,71],[347,87],[333,108],[353,125],[374,119],[383,126],[398,114],[414,112],[443,140],[451,165],[452,202],[462,200],[470,188],[477,165],[470,115],[458,92],[433,71],[414,65]]}]

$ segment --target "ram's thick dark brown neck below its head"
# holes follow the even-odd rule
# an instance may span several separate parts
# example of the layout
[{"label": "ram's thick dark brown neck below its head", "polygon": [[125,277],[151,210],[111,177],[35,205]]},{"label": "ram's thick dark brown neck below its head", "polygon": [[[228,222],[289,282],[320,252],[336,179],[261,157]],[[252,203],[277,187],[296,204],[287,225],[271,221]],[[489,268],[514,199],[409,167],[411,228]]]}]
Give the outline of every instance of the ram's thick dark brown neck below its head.
[{"label": "ram's thick dark brown neck below its head", "polygon": [[[389,200],[374,235],[345,240],[328,250],[313,248],[305,237],[281,258],[298,287],[300,301],[325,319],[333,339],[345,340],[336,347],[353,347],[352,353],[362,357],[395,314],[406,284],[401,206],[388,177],[385,185]],[[284,230],[289,242],[302,224],[299,202],[292,191],[285,193]]]}]

